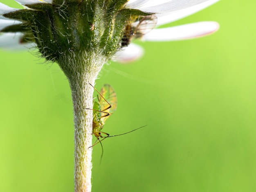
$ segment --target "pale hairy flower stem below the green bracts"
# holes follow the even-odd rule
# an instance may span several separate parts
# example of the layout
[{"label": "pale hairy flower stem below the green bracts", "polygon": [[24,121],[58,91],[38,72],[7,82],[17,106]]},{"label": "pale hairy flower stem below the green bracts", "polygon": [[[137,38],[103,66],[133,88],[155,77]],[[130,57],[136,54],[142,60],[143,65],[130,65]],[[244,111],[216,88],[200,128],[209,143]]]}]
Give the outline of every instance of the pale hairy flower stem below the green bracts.
[{"label": "pale hairy flower stem below the green bracts", "polygon": [[59,65],[66,74],[72,91],[74,108],[74,185],[75,192],[92,188],[92,109],[95,79],[106,58],[100,54],[65,54]]}]

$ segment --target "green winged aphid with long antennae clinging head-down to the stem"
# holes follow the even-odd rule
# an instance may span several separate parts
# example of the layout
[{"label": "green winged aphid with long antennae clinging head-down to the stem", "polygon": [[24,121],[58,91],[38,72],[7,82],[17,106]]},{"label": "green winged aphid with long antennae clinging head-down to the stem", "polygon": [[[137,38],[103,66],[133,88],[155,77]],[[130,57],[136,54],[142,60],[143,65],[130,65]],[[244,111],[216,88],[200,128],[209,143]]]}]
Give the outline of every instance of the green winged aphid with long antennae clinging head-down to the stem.
[{"label": "green winged aphid with long antennae clinging head-down to the stem", "polygon": [[[114,89],[109,84],[103,85],[103,87],[101,88],[101,92],[99,92],[95,87],[93,87],[93,88],[94,88],[94,90],[96,90],[98,92],[100,97],[97,96],[98,101],[94,100],[93,109],[91,109],[91,110],[93,110],[92,134],[94,134],[94,136],[97,138],[97,140],[90,147],[93,147],[94,145],[97,145],[98,143],[101,144],[101,141],[103,141],[104,139],[106,139],[108,137],[114,137],[114,136],[128,134],[130,132],[133,132],[137,129],[140,129],[140,128],[146,126],[145,125],[145,126],[139,127],[130,132],[126,132],[126,133],[118,134],[118,135],[112,135],[112,136],[110,136],[110,134],[108,134],[106,132],[102,132],[101,129],[103,128],[103,125],[105,124],[106,120],[117,109],[117,96],[116,96]],[[88,109],[88,108],[86,108],[86,109]],[[106,136],[102,136],[102,134],[105,134]],[[101,144],[101,147],[102,147],[102,144]],[[103,147],[102,147],[101,157],[102,156],[103,156]]]}]

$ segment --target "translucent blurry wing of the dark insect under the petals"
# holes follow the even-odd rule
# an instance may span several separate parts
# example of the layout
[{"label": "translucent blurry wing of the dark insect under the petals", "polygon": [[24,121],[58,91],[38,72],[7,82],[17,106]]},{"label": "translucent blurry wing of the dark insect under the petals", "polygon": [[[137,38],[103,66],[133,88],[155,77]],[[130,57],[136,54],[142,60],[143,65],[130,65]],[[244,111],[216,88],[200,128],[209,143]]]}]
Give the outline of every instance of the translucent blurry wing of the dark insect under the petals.
[{"label": "translucent blurry wing of the dark insect under the petals", "polygon": [[136,38],[139,38],[155,28],[157,16],[140,16],[136,22],[132,23],[132,28]]}]

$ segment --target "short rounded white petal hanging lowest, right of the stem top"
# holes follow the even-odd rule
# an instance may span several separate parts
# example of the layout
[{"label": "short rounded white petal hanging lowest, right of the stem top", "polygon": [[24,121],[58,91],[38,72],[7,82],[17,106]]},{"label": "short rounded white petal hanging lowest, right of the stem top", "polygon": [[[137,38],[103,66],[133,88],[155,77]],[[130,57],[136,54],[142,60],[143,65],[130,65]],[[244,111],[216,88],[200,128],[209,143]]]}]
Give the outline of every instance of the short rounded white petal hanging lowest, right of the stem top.
[{"label": "short rounded white petal hanging lowest, right of the stem top", "polygon": [[139,45],[131,43],[128,47],[118,51],[112,60],[120,63],[128,63],[139,59],[143,54],[144,50]]}]

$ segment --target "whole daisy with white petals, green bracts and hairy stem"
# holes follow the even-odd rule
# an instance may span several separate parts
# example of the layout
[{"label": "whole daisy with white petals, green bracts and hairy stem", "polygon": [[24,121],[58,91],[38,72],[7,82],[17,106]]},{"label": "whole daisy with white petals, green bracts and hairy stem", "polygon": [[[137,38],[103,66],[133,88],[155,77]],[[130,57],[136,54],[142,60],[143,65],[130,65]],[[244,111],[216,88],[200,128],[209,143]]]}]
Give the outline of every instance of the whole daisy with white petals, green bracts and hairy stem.
[{"label": "whole daisy with white petals, green bracts and hairy stem", "polygon": [[[1,1],[1,0],[0,0]],[[189,16],[217,0],[15,0],[0,2],[0,48],[36,47],[58,63],[70,83],[74,106],[76,192],[91,190],[93,88],[108,60],[127,62],[143,54],[132,43],[171,41],[213,33],[216,22],[157,28]]]}]

